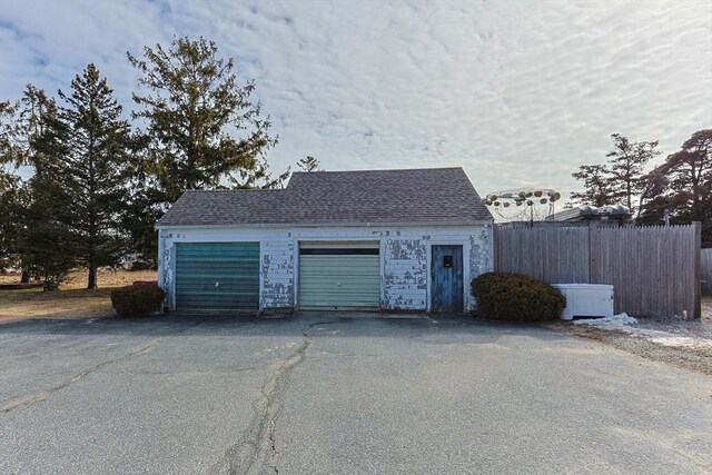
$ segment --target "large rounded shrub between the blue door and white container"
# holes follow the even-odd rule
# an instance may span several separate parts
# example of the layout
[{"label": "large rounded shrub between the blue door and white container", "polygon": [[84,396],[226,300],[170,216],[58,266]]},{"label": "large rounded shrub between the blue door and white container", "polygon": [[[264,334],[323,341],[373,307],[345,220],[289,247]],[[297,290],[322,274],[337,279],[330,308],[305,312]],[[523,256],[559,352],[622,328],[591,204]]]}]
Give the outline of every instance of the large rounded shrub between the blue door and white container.
[{"label": "large rounded shrub between the blue door and white container", "polygon": [[551,320],[566,306],[558,289],[520,274],[483,274],[472,281],[472,295],[482,317],[491,320]]}]

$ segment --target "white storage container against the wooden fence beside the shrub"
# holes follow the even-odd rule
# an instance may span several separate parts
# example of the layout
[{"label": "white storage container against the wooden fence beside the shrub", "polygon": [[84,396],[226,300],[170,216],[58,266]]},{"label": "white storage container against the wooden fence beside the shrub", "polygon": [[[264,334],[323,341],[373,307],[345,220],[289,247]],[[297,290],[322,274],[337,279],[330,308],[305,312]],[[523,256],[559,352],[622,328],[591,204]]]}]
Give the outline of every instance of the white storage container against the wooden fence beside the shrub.
[{"label": "white storage container against the wooden fence beside the shrub", "polygon": [[562,320],[613,316],[613,286],[602,284],[552,284],[566,297]]}]

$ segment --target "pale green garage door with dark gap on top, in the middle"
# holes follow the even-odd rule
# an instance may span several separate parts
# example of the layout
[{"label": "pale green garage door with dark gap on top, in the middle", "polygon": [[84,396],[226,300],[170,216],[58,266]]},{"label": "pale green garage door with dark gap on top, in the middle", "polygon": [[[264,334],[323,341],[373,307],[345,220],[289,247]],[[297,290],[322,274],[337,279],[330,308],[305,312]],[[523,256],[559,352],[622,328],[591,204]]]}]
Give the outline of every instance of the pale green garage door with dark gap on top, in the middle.
[{"label": "pale green garage door with dark gap on top, in the middle", "polygon": [[299,243],[299,308],[377,310],[378,247],[377,241]]}]

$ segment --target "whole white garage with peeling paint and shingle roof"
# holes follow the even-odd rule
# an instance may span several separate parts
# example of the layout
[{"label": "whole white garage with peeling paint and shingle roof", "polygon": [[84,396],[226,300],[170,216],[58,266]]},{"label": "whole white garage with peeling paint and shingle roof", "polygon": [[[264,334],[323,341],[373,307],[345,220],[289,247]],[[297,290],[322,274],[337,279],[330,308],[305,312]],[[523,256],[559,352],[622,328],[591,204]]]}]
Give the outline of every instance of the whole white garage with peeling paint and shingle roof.
[{"label": "whole white garage with peeling paint and shingle roof", "polygon": [[159,285],[180,311],[463,311],[492,270],[492,225],[462,168],[188,191],[156,225]]}]

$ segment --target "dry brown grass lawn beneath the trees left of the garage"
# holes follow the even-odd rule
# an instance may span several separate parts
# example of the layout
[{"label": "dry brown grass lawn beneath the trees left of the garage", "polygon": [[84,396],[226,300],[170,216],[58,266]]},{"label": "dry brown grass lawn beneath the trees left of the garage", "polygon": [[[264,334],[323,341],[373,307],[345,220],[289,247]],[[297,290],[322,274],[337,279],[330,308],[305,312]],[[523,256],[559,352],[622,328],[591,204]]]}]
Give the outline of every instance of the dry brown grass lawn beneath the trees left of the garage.
[{"label": "dry brown grass lawn beneath the trees left of the garage", "polygon": [[[156,280],[156,271],[102,270],[98,289],[87,290],[87,273],[70,273],[56,291],[41,287],[0,290],[0,321],[23,318],[100,318],[113,315],[109,295],[113,287],[135,280]],[[2,276],[0,284],[19,283],[19,276]]]}]

